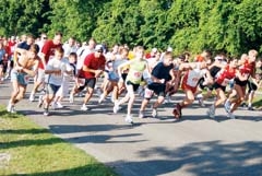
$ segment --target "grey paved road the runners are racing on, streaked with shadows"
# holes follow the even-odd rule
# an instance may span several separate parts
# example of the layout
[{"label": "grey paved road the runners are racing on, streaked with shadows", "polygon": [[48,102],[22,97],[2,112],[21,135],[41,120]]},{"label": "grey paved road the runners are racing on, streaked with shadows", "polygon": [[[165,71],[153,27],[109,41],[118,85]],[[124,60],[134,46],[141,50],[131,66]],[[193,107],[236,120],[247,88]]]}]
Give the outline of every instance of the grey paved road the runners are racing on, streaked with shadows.
[{"label": "grey paved road the runners are racing on, streaked with shadows", "polygon": [[[0,104],[7,104],[10,85],[0,85]],[[28,89],[31,90],[31,87]],[[28,96],[28,95],[27,95]],[[172,97],[177,102],[181,97]],[[213,120],[196,104],[183,110],[179,121],[171,116],[172,104],[163,105],[159,119],[134,118],[130,126],[123,112],[111,114],[108,101],[90,112],[81,112],[81,97],[74,105],[44,117],[37,103],[22,101],[16,110],[111,166],[121,176],[259,176],[262,175],[262,112],[236,112],[225,117],[223,108]],[[140,99],[135,103],[138,113]],[[151,114],[148,109],[148,115]],[[138,114],[134,114],[138,116]]]}]

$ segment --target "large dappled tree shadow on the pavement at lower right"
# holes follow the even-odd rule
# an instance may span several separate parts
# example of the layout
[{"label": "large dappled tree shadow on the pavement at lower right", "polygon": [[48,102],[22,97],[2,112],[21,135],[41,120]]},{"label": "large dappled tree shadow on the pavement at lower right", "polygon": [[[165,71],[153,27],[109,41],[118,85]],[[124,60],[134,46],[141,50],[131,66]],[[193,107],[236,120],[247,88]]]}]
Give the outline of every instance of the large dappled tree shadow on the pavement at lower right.
[{"label": "large dappled tree shadow on the pavement at lower right", "polygon": [[[143,161],[116,161],[124,176],[194,175],[259,176],[262,175],[262,142],[226,144],[222,141],[189,143],[179,149],[152,148],[138,153]],[[154,160],[154,156],[158,160]],[[159,159],[160,157],[160,159]]]}]

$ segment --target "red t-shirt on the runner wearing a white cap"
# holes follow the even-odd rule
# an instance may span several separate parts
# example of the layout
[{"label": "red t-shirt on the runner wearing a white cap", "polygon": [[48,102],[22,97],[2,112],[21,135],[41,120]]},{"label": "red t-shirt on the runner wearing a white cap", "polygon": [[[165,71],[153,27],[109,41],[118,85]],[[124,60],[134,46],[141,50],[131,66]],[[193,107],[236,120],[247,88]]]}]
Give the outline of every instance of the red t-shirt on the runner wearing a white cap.
[{"label": "red t-shirt on the runner wearing a white cap", "polygon": [[[106,64],[105,56],[100,55],[99,58],[96,58],[95,52],[87,55],[84,60],[84,66],[86,66],[90,69],[94,69],[94,70],[98,70],[98,69],[104,70],[105,64]],[[80,70],[79,75],[80,75],[80,78],[84,78],[84,79],[95,78],[95,73],[84,71],[83,68]]]}]

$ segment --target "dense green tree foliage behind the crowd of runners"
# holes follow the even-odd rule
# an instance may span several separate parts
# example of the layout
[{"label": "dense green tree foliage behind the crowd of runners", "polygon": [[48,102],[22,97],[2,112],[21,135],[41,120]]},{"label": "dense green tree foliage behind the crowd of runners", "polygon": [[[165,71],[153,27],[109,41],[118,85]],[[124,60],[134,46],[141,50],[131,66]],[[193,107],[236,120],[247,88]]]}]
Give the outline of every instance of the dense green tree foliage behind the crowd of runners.
[{"label": "dense green tree foliage behind the crowd of runners", "polygon": [[1,0],[0,11],[7,36],[60,31],[64,38],[171,46],[175,52],[262,51],[261,0]]}]

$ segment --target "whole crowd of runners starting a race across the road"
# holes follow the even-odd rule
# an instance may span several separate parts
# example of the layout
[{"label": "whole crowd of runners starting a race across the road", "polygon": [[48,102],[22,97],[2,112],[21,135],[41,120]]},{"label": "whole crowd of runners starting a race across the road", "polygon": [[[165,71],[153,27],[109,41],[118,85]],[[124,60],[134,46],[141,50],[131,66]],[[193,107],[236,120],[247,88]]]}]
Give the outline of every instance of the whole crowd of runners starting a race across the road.
[{"label": "whole crowd of runners starting a race across the road", "polygon": [[[94,91],[100,91],[97,104],[110,96],[112,112],[117,114],[128,103],[124,120],[132,124],[136,96],[142,96],[139,117],[145,117],[153,97],[152,117],[157,117],[157,108],[182,91],[184,97],[174,105],[175,118],[181,118],[182,109],[195,99],[205,106],[205,99],[215,96],[207,116],[214,118],[215,109],[223,105],[226,115],[234,119],[234,112],[245,102],[253,110],[252,101],[261,87],[261,77],[262,59],[254,49],[240,58],[207,49],[195,56],[188,51],[175,56],[171,47],[163,51],[152,48],[150,52],[143,46],[130,48],[116,44],[107,48],[94,38],[80,44],[70,37],[62,44],[59,32],[51,39],[44,33],[39,38],[0,37],[0,84],[10,79],[13,86],[7,106],[10,113],[15,113],[15,104],[26,91],[31,92],[28,101],[38,98],[45,116],[50,115],[51,106],[63,108],[64,101],[74,103],[80,93],[85,94],[80,109],[86,112]],[[34,78],[33,89],[26,90],[31,78]],[[98,80],[103,80],[99,85]]]}]

